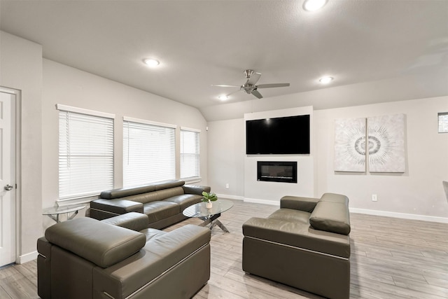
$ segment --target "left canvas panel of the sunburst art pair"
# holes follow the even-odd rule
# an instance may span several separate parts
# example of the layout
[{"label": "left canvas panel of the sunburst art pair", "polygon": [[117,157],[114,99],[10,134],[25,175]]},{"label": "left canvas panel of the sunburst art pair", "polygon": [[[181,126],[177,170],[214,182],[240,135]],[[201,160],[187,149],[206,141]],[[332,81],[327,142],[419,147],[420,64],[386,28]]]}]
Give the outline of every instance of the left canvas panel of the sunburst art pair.
[{"label": "left canvas panel of the sunburst art pair", "polygon": [[335,120],[335,172],[365,172],[365,118]]}]

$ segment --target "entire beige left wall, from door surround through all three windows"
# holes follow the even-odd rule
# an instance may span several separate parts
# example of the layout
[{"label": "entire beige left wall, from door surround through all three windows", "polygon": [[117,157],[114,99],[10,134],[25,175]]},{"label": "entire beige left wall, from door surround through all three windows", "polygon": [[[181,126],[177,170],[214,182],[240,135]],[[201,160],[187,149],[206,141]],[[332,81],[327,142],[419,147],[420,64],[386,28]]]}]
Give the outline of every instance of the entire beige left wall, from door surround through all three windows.
[{"label": "entire beige left wall, from door surround through all three windows", "polygon": [[[207,123],[197,109],[42,58],[42,47],[0,32],[0,85],[21,91],[18,261],[36,258],[36,240],[54,224],[42,216],[58,196],[56,104],[116,114],[115,186],[122,186],[123,116],[199,129],[200,183],[207,184]],[[179,134],[178,134],[179,135]],[[179,136],[177,137],[179,139]],[[179,153],[179,142],[177,142]],[[176,162],[179,177],[179,156]]]}]

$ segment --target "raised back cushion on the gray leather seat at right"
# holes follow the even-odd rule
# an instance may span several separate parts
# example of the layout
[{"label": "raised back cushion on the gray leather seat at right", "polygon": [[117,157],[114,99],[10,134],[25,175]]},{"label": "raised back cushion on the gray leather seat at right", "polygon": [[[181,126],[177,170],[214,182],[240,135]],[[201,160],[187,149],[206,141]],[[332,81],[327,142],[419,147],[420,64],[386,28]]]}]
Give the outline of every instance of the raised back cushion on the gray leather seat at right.
[{"label": "raised back cushion on the gray leather seat at right", "polygon": [[309,224],[315,230],[349,235],[349,207],[339,202],[318,202],[309,217]]}]

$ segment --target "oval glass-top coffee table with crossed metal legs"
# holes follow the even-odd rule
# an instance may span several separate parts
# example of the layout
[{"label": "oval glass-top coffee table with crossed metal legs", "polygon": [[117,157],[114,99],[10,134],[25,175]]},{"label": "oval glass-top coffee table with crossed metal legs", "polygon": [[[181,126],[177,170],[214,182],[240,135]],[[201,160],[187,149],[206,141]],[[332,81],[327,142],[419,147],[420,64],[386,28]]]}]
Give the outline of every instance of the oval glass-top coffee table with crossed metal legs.
[{"label": "oval glass-top coffee table with crossed metal legs", "polygon": [[210,209],[207,209],[207,202],[200,202],[198,204],[193,204],[192,206],[183,210],[183,216],[190,218],[200,218],[203,223],[200,226],[209,225],[209,228],[212,229],[215,225],[218,225],[221,230],[225,232],[229,232],[227,228],[218,220],[221,213],[224,213],[231,207],[233,207],[233,202],[230,200],[216,200],[212,202],[213,206]]}]

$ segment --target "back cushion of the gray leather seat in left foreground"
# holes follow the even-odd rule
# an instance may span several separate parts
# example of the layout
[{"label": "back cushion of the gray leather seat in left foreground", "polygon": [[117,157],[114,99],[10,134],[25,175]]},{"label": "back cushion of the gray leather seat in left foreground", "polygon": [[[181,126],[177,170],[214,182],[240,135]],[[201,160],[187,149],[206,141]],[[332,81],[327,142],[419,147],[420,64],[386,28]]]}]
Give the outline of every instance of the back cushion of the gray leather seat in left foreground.
[{"label": "back cushion of the gray leather seat in left foreground", "polygon": [[146,244],[146,236],[140,232],[85,217],[50,226],[45,239],[99,267],[114,265]]}]

